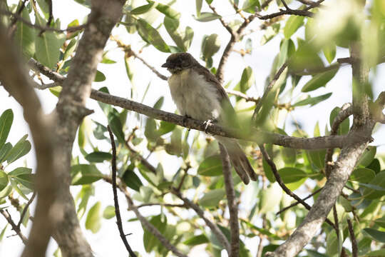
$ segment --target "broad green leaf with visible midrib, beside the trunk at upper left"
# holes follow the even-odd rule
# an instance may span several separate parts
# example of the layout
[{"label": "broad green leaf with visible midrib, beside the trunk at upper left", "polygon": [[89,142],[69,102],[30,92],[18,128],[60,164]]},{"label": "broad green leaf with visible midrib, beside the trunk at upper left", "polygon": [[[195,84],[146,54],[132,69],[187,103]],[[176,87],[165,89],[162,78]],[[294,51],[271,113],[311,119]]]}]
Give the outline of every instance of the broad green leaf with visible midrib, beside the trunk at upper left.
[{"label": "broad green leaf with visible midrib, beside the trunk at upper left", "polygon": [[[46,20],[35,12],[36,24],[46,26]],[[45,31],[41,36],[35,36],[36,59],[50,69],[56,67],[60,58],[60,48],[66,41],[65,34]]]}]

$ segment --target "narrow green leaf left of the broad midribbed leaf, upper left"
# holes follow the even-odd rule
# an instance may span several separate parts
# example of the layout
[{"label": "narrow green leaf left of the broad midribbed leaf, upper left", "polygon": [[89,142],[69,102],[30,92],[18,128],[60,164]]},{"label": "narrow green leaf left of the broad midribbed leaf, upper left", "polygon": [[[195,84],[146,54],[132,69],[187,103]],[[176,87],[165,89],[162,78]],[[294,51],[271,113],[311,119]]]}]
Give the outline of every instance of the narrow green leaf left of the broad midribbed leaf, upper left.
[{"label": "narrow green leaf left of the broad midribbed leaf, upper left", "polygon": [[[20,7],[19,7],[20,8]],[[21,17],[31,23],[29,12],[26,8],[21,11]],[[35,31],[24,22],[18,21],[15,33],[15,41],[19,46],[19,51],[23,53],[26,58],[31,58],[35,54]]]}]

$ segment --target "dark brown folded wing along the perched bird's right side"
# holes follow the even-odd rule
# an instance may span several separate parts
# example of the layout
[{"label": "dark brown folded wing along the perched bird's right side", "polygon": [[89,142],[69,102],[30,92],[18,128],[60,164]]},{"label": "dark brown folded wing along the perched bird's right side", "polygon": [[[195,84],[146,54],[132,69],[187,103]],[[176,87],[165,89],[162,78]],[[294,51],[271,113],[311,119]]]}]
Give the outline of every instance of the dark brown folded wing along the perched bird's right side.
[{"label": "dark brown folded wing along the perched bird's right side", "polygon": [[227,93],[225,89],[223,89],[220,82],[204,66],[200,65],[197,67],[196,71],[198,74],[205,76],[206,81],[215,86],[217,89],[217,98],[220,101],[223,110],[220,114],[220,122],[227,126],[237,127],[237,114],[235,114],[235,110],[230,103],[229,96],[227,96]]}]

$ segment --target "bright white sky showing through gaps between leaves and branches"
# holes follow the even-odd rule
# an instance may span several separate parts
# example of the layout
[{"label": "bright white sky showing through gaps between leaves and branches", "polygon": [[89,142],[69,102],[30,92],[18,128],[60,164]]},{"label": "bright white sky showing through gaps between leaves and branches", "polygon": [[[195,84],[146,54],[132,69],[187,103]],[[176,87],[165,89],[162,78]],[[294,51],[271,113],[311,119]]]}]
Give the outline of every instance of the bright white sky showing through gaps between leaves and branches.
[{"label": "bright white sky showing through gaps between leaves and branches", "polygon": [[[9,1],[14,2],[14,1]],[[145,2],[143,0],[143,2]],[[227,4],[227,1],[225,1],[225,4],[218,4],[219,1],[214,1],[213,4],[217,7],[217,12],[222,14],[224,16],[224,19],[227,21],[230,21],[234,18],[234,11],[231,8],[230,4]],[[182,11],[182,18],[181,18],[181,26],[191,26],[195,31],[195,36],[193,40],[192,47],[190,48],[190,53],[193,54],[197,59],[200,54],[200,44],[201,39],[204,34],[212,34],[217,33],[219,34],[220,41],[222,43],[221,49],[219,51],[219,54],[216,54],[214,56],[214,65],[217,66],[219,63],[220,54],[222,53],[223,49],[225,48],[225,45],[227,44],[227,41],[230,39],[230,36],[228,32],[222,28],[219,21],[212,21],[208,23],[200,23],[195,21],[193,19],[192,15],[195,14],[195,1],[177,1],[175,4],[175,9],[183,10]],[[61,24],[63,28],[66,27],[68,23],[73,21],[73,19],[78,19],[79,21],[83,21],[83,18],[87,15],[88,9],[84,8],[83,6],[77,4],[75,1],[69,0],[69,1],[53,1],[53,14],[55,18],[61,19]],[[210,11],[205,4],[203,4],[203,10],[202,11]],[[254,25],[253,25],[254,24]],[[251,24],[249,27],[252,28],[257,27],[260,24],[260,21],[255,21],[253,24]],[[166,42],[169,44],[173,44],[172,40],[168,36],[168,34],[165,32],[165,29],[161,29],[161,34]],[[303,31],[298,31],[297,35],[302,36]],[[116,29],[113,31],[113,35],[119,35],[119,38],[122,39],[126,44],[133,44],[133,50],[138,51],[140,49],[141,45],[138,45],[138,37],[132,36],[125,32],[125,29]],[[295,36],[297,36],[295,35]],[[240,54],[232,53],[230,56],[230,59],[226,66],[226,72],[225,72],[225,81],[232,80],[232,84],[235,85],[237,81],[240,80],[240,76],[242,74],[243,69],[245,66],[251,66],[255,78],[256,78],[256,85],[253,89],[250,90],[250,95],[252,96],[260,96],[262,95],[263,88],[265,85],[265,79],[270,74],[270,68],[272,65],[272,60],[274,59],[274,55],[277,54],[277,49],[279,47],[279,41],[281,38],[277,36],[275,39],[270,41],[265,46],[260,46],[260,38],[262,36],[262,33],[253,34],[251,36],[251,39],[253,41],[253,51],[251,56],[245,56],[244,58],[240,56]],[[294,36],[294,38],[295,38]],[[247,37],[245,37],[247,39]],[[235,46],[235,49],[240,49],[244,46],[244,44],[238,44]],[[128,97],[129,91],[130,91],[130,82],[128,81],[128,78],[125,74],[125,67],[123,64],[123,54],[119,49],[116,49],[115,44],[108,44],[106,46],[107,49],[111,49],[108,56],[118,61],[117,64],[113,65],[106,65],[101,64],[98,69],[103,71],[104,74],[106,74],[107,79],[106,81],[103,81],[101,83],[95,83],[93,85],[94,89],[99,89],[102,86],[108,86],[108,89],[110,90],[111,94],[122,96],[122,97]],[[346,57],[348,56],[348,52],[344,51],[343,54],[340,54],[339,57]],[[150,63],[152,66],[155,66],[155,68],[160,71],[160,73],[169,75],[168,71],[165,69],[160,68],[161,64],[165,61],[168,54],[160,53],[159,51],[155,50],[152,46],[146,48],[143,53],[140,54],[140,56],[143,57],[143,59],[147,60],[148,63]],[[168,86],[165,81],[162,81],[158,79],[155,74],[153,74],[150,70],[148,70],[143,64],[141,64],[140,61],[135,61],[135,75],[134,75],[134,84],[136,91],[138,92],[138,96],[135,101],[140,101],[140,99],[143,96],[143,92],[145,90],[145,87],[150,84],[150,90],[147,96],[145,97],[143,104],[147,104],[150,106],[153,106],[155,101],[160,96],[165,96],[165,104],[163,106],[164,111],[175,111],[175,105],[173,104],[173,101],[170,98],[170,93],[168,91]],[[374,79],[374,96],[378,96],[379,92],[381,90],[384,90],[384,81],[385,81],[385,66],[384,64],[380,65],[377,69],[376,78]],[[310,77],[309,77],[310,78]],[[300,82],[301,84],[304,84],[308,79],[302,79]],[[299,89],[301,86],[297,86],[297,89],[294,91],[293,96],[299,96]],[[342,104],[350,102],[351,101],[351,95],[346,94],[346,92],[351,91],[351,69],[349,67],[344,67],[340,69],[337,76],[328,84],[326,88],[317,89],[315,93],[313,92],[312,96],[319,96],[322,94],[326,94],[329,92],[333,92],[332,96],[327,100],[322,102],[322,104],[318,104],[317,106],[312,107],[312,109],[309,109],[307,106],[299,108],[297,111],[295,111],[292,114],[292,119],[295,119],[297,122],[302,124],[303,129],[307,131],[309,136],[312,136],[314,125],[317,121],[319,121],[319,125],[321,128],[321,131],[324,131],[325,124],[329,123],[329,114],[334,109],[335,106],[342,106]],[[37,91],[39,94],[39,97],[41,99],[41,102],[43,104],[44,109],[47,113],[51,112],[55,106],[56,106],[56,97],[53,96],[48,90],[46,91]],[[16,101],[12,99],[11,97],[8,97],[8,94],[6,91],[4,91],[3,88],[0,88],[0,99],[1,99],[1,105],[0,105],[0,114],[5,111],[6,109],[13,109],[14,111],[14,124],[11,128],[11,133],[8,138],[8,141],[11,143],[16,143],[16,141],[19,140],[21,136],[24,136],[24,134],[29,133],[28,126],[26,122],[23,119],[23,112],[18,104],[16,104]],[[296,101],[296,99],[293,100],[293,102]],[[89,118],[99,121],[102,124],[107,124],[105,116],[101,114],[101,111],[98,107],[98,104],[96,104],[96,101],[93,101],[90,99],[87,102],[87,106],[90,109],[95,109],[96,114],[92,114],[89,116]],[[129,126],[132,128],[136,124],[130,124]],[[289,131],[294,131],[294,126],[290,125],[289,122],[287,122],[287,128]],[[384,152],[384,143],[385,143],[385,136],[384,136],[384,126],[374,133],[374,142],[371,143],[372,145],[376,146],[382,146],[379,148],[379,151]],[[29,136],[29,140],[31,140],[31,136]],[[105,150],[108,151],[109,146],[101,146],[106,147]],[[75,147],[76,148],[76,147]],[[166,163],[168,166],[168,171],[175,172],[176,168],[178,167],[178,161],[171,161],[170,157],[165,156],[162,153],[153,155],[152,158],[150,158],[150,161],[159,161],[159,159],[163,160],[163,163]],[[164,161],[166,160],[166,161]],[[175,160],[175,159],[174,159]],[[18,161],[14,163],[12,166],[9,167],[9,170],[11,170],[12,167],[16,166],[22,166],[24,161],[26,161],[27,166],[34,167],[35,166],[35,160],[34,160],[34,154],[31,152],[29,153],[26,158],[23,158],[23,160]],[[93,206],[96,201],[102,202],[102,210],[112,204],[112,190],[111,186],[103,183],[98,182],[96,183],[96,187],[98,190],[96,191],[96,195],[91,199],[89,206]],[[80,186],[77,186],[75,188],[72,188],[73,192],[75,193],[74,196],[76,196],[76,193],[80,190]],[[125,199],[120,196],[120,206],[122,210],[123,215],[123,221],[127,220],[128,218],[133,218],[133,213],[128,213],[125,210]],[[10,208],[12,209],[12,208]],[[143,211],[144,216],[148,216],[151,213],[158,213],[158,208],[141,208],[140,211]],[[14,219],[16,220],[19,218],[17,214],[14,213]],[[123,243],[120,241],[120,238],[118,236],[118,230],[116,228],[115,219],[111,220],[103,220],[102,222],[102,228],[101,231],[99,231],[96,234],[91,233],[90,231],[86,231],[84,228],[84,222],[85,217],[81,220],[81,226],[83,226],[83,232],[86,235],[86,238],[88,239],[88,242],[91,243],[91,247],[93,248],[94,253],[96,256],[127,256],[127,253],[125,251],[125,248],[123,247]],[[4,228],[6,225],[6,221],[4,218],[0,217],[0,229]],[[145,250],[143,248],[143,230],[140,227],[138,222],[131,222],[131,223],[123,223],[123,227],[125,228],[125,233],[133,233],[133,236],[128,236],[128,242],[130,243],[131,248],[133,248],[135,251],[139,251],[140,253],[145,256]],[[28,235],[28,233],[25,232],[25,235]],[[6,236],[13,235],[13,231],[8,229],[6,232]],[[248,245],[249,243],[247,243]],[[255,255],[255,247],[252,247],[250,245],[250,249],[252,249],[252,255]],[[8,257],[14,257],[19,256],[23,249],[23,245],[19,238],[17,236],[13,236],[11,238],[4,238],[3,241],[0,243],[0,256],[8,256]],[[48,249],[47,256],[52,256],[53,251],[56,250],[56,243],[51,243],[50,247]],[[195,251],[198,251],[199,248],[195,249]]]}]

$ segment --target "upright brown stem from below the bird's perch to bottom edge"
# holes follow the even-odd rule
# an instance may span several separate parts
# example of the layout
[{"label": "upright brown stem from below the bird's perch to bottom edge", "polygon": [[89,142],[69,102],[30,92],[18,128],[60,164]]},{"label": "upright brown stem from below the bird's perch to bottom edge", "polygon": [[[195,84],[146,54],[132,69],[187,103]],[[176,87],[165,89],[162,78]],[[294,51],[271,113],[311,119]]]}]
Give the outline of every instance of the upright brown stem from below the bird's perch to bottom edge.
[{"label": "upright brown stem from below the bird's perch to bottom edge", "polygon": [[220,143],[219,146],[220,157],[222,158],[222,171],[225,181],[227,206],[229,207],[230,213],[231,252],[229,256],[236,257],[239,256],[240,253],[240,226],[238,225],[238,207],[237,203],[235,202],[234,182],[232,181],[231,176],[230,158],[226,148],[222,145],[222,143]]}]

